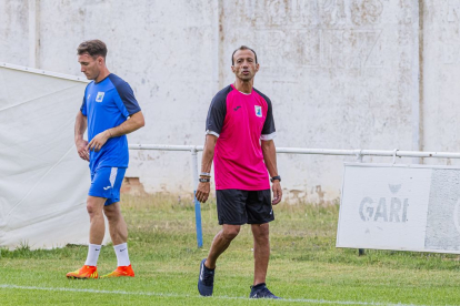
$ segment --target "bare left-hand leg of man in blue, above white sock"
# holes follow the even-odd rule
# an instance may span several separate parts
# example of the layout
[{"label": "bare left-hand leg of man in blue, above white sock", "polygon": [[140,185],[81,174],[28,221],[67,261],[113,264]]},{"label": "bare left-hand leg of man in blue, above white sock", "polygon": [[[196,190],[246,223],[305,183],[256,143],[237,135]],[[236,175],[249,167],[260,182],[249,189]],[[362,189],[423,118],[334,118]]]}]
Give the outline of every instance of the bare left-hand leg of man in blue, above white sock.
[{"label": "bare left-hand leg of man in blue, above white sock", "polygon": [[90,244],[102,244],[106,233],[102,207],[107,198],[88,196],[87,211],[90,216]]}]

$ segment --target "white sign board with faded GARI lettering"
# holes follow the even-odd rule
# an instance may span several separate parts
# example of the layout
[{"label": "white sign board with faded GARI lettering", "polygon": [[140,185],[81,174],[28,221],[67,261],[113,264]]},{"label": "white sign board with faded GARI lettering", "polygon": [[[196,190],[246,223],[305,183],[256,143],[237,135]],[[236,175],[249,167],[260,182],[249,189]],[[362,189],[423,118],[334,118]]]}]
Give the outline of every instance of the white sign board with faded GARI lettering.
[{"label": "white sign board with faded GARI lettering", "polygon": [[460,254],[460,169],[346,164],[337,247]]}]

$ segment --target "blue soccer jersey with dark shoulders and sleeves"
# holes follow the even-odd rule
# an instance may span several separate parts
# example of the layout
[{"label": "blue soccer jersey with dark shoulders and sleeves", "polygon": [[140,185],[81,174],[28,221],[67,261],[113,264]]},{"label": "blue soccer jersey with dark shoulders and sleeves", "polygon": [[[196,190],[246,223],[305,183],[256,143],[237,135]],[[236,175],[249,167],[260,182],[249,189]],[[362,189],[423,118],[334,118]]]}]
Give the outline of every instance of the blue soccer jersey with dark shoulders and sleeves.
[{"label": "blue soccer jersey with dark shoulders and sleeves", "polygon": [[[122,79],[110,73],[101,82],[92,81],[84,90],[81,113],[88,118],[88,141],[97,134],[120,125],[128,116],[141,109],[131,86]],[[126,135],[111,137],[99,152],[90,152],[90,170],[128,167],[129,153]]]}]

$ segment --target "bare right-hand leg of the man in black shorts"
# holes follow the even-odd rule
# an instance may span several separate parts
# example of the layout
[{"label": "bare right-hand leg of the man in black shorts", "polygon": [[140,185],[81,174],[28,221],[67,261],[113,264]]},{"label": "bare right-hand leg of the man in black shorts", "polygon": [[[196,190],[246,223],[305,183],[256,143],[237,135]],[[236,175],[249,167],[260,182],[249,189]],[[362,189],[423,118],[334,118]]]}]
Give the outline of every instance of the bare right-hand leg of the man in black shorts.
[{"label": "bare right-hand leg of the man in black shorts", "polygon": [[254,237],[254,284],[266,283],[270,258],[269,224],[251,224]]}]

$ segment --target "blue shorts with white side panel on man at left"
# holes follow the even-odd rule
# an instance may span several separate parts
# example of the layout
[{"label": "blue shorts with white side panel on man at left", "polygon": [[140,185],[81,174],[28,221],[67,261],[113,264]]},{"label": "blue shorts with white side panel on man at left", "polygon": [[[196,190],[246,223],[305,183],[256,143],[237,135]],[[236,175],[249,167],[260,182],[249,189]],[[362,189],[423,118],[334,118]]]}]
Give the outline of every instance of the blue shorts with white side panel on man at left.
[{"label": "blue shorts with white side panel on man at left", "polygon": [[88,195],[104,197],[106,206],[120,202],[120,187],[126,167],[103,166],[91,173],[91,186]]}]

